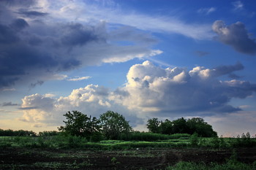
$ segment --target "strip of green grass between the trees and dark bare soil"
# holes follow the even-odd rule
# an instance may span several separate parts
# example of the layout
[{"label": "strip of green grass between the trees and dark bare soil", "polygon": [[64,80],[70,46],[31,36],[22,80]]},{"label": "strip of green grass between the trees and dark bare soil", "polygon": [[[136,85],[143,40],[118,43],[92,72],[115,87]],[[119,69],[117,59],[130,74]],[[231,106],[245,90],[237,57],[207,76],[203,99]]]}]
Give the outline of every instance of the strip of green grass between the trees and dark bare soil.
[{"label": "strip of green grass between the trees and dark bare soil", "polygon": [[[138,133],[134,133],[135,136]],[[89,142],[79,136],[1,136],[0,148],[5,147],[31,147],[69,149],[81,148],[89,150],[127,150],[135,148],[157,147],[206,147],[206,148],[233,148],[256,147],[255,138],[201,138],[188,134],[159,135],[151,133],[139,133],[148,140],[103,140]],[[150,140],[149,137],[151,136]],[[157,136],[156,141],[151,141],[152,136]],[[189,137],[190,139],[189,139]],[[159,138],[164,138],[159,140]]]}]

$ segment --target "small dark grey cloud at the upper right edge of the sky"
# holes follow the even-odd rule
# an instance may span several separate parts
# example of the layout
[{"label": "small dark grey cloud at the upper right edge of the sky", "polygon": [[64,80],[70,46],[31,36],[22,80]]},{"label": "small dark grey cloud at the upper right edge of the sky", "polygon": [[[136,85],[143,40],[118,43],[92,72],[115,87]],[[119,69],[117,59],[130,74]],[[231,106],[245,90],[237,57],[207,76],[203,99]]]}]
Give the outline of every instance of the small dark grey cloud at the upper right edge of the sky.
[{"label": "small dark grey cloud at the upper right edge of the sky", "polygon": [[212,25],[212,29],[218,34],[217,39],[233,47],[239,53],[255,55],[256,42],[251,39],[243,23],[237,22],[226,26],[222,20],[217,20]]}]

